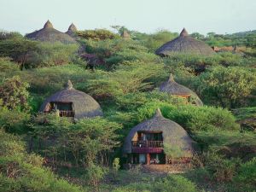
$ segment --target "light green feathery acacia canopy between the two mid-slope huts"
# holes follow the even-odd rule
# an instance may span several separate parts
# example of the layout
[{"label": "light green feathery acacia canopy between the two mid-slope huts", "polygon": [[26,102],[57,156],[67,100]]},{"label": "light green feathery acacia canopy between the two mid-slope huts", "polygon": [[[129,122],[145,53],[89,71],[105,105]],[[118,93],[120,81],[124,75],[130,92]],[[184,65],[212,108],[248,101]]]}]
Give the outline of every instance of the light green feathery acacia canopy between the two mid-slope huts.
[{"label": "light green feathery acacia canopy between the two mid-slope huts", "polygon": [[114,98],[140,90],[150,90],[152,85],[149,79],[157,79],[162,70],[163,66],[160,64],[128,62],[117,67],[113,73],[100,73],[101,76],[89,80],[87,90],[96,98]]}]

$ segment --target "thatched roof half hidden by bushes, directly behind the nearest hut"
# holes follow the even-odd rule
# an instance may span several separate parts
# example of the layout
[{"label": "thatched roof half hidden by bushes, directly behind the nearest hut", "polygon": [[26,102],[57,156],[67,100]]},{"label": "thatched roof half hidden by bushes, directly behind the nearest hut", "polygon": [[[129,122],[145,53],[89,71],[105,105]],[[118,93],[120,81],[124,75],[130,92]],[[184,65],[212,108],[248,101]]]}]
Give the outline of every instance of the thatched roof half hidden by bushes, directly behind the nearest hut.
[{"label": "thatched roof half hidden by bushes, directly behind the nearest hut", "polygon": [[190,96],[192,103],[195,102],[195,105],[198,106],[203,105],[203,102],[201,102],[201,99],[195,94],[193,90],[189,90],[189,88],[183,86],[182,84],[177,84],[173,78],[172,73],[170,74],[169,79],[160,85],[160,91],[166,92],[173,96]]}]

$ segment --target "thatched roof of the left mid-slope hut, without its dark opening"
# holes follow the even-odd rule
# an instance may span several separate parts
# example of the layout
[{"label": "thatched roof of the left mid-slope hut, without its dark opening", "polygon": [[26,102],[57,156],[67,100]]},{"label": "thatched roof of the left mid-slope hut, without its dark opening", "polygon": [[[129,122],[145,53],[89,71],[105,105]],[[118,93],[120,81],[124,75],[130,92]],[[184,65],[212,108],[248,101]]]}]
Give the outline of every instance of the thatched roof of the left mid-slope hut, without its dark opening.
[{"label": "thatched roof of the left mid-slope hut, without its dark opening", "polygon": [[72,102],[75,119],[91,118],[103,114],[102,108],[94,98],[82,91],[75,90],[70,80],[68,80],[64,90],[56,92],[45,100],[40,111],[47,111],[50,102]]}]

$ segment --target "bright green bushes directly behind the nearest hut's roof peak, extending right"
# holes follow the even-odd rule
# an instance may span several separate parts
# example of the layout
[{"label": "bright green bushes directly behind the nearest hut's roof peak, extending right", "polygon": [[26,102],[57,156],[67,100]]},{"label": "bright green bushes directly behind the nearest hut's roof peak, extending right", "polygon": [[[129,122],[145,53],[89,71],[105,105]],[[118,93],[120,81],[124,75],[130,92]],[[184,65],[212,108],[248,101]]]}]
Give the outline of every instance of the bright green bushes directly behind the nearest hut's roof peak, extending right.
[{"label": "bright green bushes directly behind the nearest hut's roof peak, extending right", "polygon": [[167,119],[182,125],[187,131],[238,130],[235,117],[226,109],[196,107],[192,105],[173,106],[166,102],[149,102],[138,109],[139,121],[152,117],[160,108]]}]

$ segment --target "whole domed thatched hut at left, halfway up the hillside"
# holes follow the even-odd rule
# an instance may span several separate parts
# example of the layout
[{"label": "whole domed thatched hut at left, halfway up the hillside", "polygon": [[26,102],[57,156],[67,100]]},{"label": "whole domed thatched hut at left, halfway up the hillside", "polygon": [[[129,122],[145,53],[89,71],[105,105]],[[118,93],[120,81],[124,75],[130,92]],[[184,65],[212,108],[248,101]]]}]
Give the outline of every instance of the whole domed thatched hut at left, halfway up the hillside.
[{"label": "whole domed thatched hut at left, halfway up the hillside", "polygon": [[45,100],[40,111],[44,113],[58,111],[61,117],[73,117],[74,119],[93,118],[103,114],[102,108],[94,98],[75,90],[70,80],[64,90],[56,92]]}]

